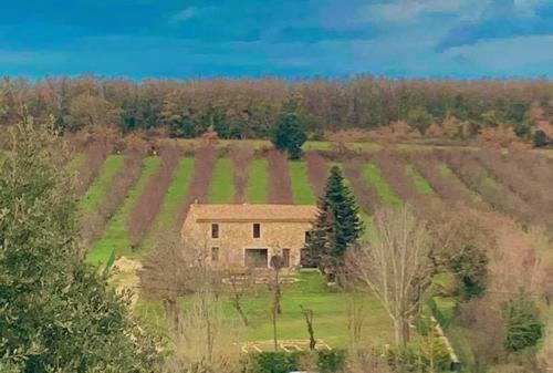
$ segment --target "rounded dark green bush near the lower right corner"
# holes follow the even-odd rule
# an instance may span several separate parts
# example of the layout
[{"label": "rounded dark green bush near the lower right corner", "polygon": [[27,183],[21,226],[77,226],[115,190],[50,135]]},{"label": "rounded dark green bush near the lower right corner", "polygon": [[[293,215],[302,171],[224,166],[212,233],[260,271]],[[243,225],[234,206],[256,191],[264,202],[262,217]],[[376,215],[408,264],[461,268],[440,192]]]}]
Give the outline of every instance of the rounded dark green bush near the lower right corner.
[{"label": "rounded dark green bush near the lower right corner", "polygon": [[533,301],[511,301],[504,310],[507,351],[518,352],[534,346],[543,336],[543,323]]}]

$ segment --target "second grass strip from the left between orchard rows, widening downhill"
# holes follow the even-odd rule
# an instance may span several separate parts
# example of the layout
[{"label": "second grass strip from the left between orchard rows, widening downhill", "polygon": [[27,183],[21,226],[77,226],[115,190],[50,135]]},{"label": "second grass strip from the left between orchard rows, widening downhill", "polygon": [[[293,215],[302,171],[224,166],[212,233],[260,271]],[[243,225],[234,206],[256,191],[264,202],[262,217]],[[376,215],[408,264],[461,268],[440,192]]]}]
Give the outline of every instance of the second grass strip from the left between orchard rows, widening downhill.
[{"label": "second grass strip from the left between orchard rows, widening downhill", "polygon": [[131,211],[138,201],[138,197],[142,195],[150,177],[153,177],[156,173],[159,164],[159,157],[144,158],[143,169],[138,182],[129,190],[125,201],[123,203],[123,207],[107,224],[103,237],[93,245],[86,261],[94,265],[105,263],[113,249],[115,249],[116,255],[118,256],[133,255],[125,224],[131,215]]}]

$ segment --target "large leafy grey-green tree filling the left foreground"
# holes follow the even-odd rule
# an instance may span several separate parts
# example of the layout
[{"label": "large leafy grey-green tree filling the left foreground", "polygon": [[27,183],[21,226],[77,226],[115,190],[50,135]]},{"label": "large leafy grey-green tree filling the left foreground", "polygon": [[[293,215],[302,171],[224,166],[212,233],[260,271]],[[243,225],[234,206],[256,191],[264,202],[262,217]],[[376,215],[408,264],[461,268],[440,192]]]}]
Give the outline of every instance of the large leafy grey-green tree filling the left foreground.
[{"label": "large leafy grey-green tree filling the left foreground", "polygon": [[128,297],[82,260],[52,126],[24,117],[0,166],[0,371],[152,371],[157,354]]}]

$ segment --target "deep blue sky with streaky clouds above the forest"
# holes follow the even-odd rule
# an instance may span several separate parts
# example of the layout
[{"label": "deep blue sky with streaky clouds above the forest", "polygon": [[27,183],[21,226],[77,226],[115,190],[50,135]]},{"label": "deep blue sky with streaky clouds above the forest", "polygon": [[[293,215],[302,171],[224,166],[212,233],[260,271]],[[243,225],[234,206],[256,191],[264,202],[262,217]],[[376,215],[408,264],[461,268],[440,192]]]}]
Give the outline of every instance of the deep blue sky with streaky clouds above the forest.
[{"label": "deep blue sky with streaky clouds above the forest", "polygon": [[15,0],[0,74],[553,77],[553,0]]}]

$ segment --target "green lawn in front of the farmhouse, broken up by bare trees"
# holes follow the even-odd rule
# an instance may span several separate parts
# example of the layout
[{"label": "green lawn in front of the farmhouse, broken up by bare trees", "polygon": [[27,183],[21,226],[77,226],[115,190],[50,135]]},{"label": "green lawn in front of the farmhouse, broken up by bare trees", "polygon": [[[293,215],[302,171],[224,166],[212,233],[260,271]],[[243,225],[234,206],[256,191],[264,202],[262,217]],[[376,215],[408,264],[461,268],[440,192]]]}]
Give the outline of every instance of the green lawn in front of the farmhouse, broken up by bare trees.
[{"label": "green lawn in front of the farmhouse, broken up by bare trees", "polygon": [[[345,293],[331,289],[319,271],[301,271],[298,280],[295,283],[283,286],[282,313],[276,324],[280,340],[309,340],[300,308],[303,305],[313,310],[316,339],[324,340],[332,348],[346,348],[349,343],[348,308],[355,299],[357,304],[363,304],[363,342],[366,345],[383,346],[393,341],[392,322],[380,303],[371,293]],[[241,304],[250,323],[240,333],[244,335],[243,342],[272,340],[272,293],[267,286],[259,287],[255,294],[242,299]],[[241,324],[238,312],[232,308],[228,297],[222,297],[222,300],[223,324]],[[189,298],[182,299],[180,305],[185,310],[189,308]],[[135,313],[145,322],[146,328],[158,332],[167,328],[160,302],[140,299]]]}]

